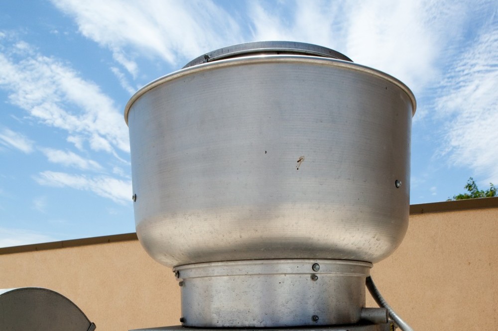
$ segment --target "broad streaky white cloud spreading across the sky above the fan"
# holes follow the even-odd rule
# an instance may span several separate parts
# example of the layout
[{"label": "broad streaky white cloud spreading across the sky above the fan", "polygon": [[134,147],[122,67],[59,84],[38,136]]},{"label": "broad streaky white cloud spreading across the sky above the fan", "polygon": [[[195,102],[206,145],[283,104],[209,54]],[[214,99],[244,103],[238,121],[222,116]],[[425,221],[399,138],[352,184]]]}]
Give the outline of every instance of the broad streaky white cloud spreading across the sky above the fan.
[{"label": "broad streaky white cloud spreading across the sky above the fan", "polygon": [[[74,17],[83,35],[110,49],[133,77],[138,56],[159,56],[177,65],[248,38],[295,40],[343,52],[393,75],[416,93],[438,78],[446,58],[442,54],[448,55],[449,43],[476,5],[447,0],[247,1],[247,17],[242,18],[210,0],[52,1]],[[247,28],[251,35],[244,34]]]}]

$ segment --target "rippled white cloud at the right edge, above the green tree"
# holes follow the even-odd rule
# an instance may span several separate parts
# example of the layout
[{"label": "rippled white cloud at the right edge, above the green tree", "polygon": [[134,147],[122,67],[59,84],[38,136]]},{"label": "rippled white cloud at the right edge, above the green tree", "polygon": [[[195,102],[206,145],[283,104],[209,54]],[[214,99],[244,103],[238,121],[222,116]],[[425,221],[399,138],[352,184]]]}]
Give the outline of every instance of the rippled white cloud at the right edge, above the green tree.
[{"label": "rippled white cloud at the right edge, above the green tree", "polygon": [[438,89],[436,110],[446,121],[442,155],[498,182],[498,23],[483,26],[462,49]]}]

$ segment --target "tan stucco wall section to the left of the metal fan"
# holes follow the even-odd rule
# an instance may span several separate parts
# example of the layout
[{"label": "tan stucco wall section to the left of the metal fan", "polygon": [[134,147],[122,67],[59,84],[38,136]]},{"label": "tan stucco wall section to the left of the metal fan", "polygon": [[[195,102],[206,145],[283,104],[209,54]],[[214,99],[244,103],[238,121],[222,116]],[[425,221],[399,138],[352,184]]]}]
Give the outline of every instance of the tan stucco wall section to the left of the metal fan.
[{"label": "tan stucco wall section to the left of the metal fan", "polygon": [[25,286],[66,296],[96,331],[180,324],[178,282],[136,240],[0,255],[0,288]]}]

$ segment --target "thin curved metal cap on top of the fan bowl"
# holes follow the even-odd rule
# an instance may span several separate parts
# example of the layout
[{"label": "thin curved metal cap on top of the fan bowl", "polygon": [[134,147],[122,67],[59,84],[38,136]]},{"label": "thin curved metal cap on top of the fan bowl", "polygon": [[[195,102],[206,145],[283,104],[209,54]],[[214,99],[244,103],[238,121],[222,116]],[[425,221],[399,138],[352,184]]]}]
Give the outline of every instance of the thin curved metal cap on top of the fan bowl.
[{"label": "thin curved metal cap on top of the fan bowl", "polygon": [[182,69],[237,56],[273,53],[321,56],[353,62],[353,60],[342,53],[314,44],[293,41],[255,41],[216,49],[193,59]]}]

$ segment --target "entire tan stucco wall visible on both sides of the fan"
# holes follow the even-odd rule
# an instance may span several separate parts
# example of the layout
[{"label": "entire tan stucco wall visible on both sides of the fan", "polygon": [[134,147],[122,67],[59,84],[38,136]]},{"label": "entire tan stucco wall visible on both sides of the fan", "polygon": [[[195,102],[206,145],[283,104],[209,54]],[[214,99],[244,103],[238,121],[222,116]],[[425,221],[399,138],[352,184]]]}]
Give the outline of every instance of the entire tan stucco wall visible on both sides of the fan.
[{"label": "entire tan stucco wall visible on both sides of the fan", "polygon": [[[375,264],[372,275],[416,331],[498,330],[497,248],[498,208],[411,215],[403,243]],[[18,253],[0,249],[0,288],[24,286],[67,296],[97,331],[179,324],[173,273],[136,240]],[[374,306],[370,298],[368,303]]]}]

